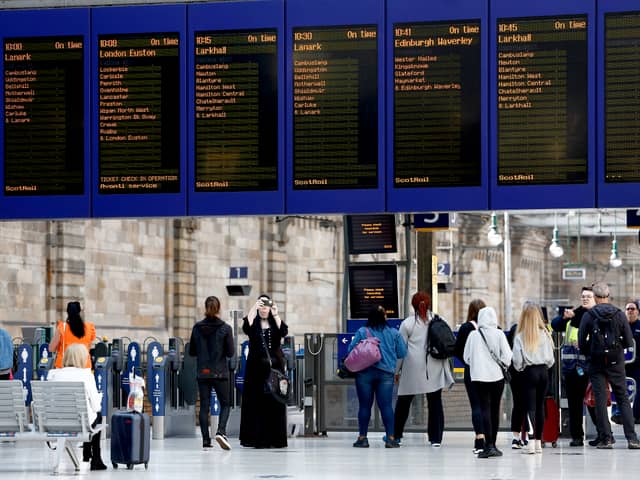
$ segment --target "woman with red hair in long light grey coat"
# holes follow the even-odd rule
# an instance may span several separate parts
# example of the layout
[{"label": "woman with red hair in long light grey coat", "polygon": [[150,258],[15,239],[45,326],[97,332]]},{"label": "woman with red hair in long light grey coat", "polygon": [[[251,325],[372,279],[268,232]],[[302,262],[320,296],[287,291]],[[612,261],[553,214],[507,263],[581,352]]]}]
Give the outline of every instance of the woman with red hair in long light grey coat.
[{"label": "woman with red hair in long light grey coat", "polygon": [[394,434],[400,441],[409,417],[413,397],[427,394],[429,409],[427,432],[433,447],[442,444],[444,432],[444,410],[442,389],[450,388],[453,375],[449,360],[429,356],[426,360],[425,345],[429,331],[429,321],[433,318],[431,297],[426,292],[417,292],[411,299],[414,315],[407,317],[400,325],[400,334],[407,342],[407,356],[399,362],[398,400],[394,418]]}]

